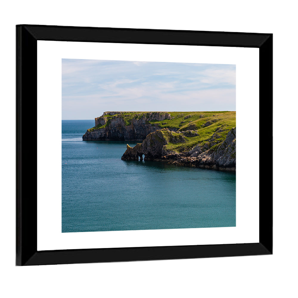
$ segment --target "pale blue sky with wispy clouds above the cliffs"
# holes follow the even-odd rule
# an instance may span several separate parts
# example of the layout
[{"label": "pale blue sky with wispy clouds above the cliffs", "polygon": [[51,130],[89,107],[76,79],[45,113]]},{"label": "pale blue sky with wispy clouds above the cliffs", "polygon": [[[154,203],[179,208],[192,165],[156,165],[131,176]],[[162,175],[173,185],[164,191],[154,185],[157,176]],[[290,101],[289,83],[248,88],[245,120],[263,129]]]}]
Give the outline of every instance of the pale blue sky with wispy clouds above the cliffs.
[{"label": "pale blue sky with wispy clouds above the cliffs", "polygon": [[62,59],[62,119],[105,111],[236,111],[236,66]]}]

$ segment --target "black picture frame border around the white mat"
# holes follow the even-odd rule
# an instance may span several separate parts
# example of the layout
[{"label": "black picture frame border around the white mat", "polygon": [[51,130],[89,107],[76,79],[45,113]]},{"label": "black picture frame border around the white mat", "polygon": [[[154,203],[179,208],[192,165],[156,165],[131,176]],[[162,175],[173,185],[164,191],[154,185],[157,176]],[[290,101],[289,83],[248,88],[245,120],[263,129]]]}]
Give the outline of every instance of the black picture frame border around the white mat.
[{"label": "black picture frame border around the white mat", "polygon": [[[259,48],[260,111],[266,110],[266,180],[260,184],[259,243],[37,250],[37,41],[77,41]],[[273,35],[125,28],[16,26],[16,265],[46,265],[272,254]],[[266,108],[265,108],[266,106]],[[30,142],[30,143],[29,143]],[[268,162],[269,161],[269,162]],[[29,169],[33,169],[28,172]],[[261,174],[261,171],[260,171]],[[260,175],[261,177],[261,175]]]}]

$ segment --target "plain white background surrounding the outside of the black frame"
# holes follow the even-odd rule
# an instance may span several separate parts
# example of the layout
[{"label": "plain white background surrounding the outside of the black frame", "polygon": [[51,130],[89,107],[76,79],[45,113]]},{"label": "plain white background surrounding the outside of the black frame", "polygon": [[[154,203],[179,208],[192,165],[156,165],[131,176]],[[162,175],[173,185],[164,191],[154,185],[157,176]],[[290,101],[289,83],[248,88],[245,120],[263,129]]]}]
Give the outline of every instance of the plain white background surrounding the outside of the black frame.
[{"label": "plain white background surrounding the outside of the black frame", "polygon": [[[5,1],[1,16],[3,297],[294,297],[297,41],[294,1]],[[274,254],[15,267],[15,25],[274,34]],[[266,100],[264,98],[263,100]],[[253,107],[252,107],[253,108]],[[263,111],[264,115],[268,114]],[[266,125],[260,123],[263,130]],[[28,137],[34,137],[28,136]],[[253,139],[253,136],[249,136]],[[266,151],[261,149],[266,178]],[[253,164],[253,154],[250,156]],[[270,178],[270,177],[269,177]],[[266,193],[263,194],[266,199]]]}]

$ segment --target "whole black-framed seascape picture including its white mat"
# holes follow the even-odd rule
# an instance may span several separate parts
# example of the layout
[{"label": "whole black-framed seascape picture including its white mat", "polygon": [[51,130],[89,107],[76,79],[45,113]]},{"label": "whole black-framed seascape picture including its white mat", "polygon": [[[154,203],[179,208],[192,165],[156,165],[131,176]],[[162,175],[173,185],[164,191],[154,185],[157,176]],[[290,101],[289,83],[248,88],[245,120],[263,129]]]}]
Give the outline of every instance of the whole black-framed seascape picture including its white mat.
[{"label": "whole black-framed seascape picture including its white mat", "polygon": [[16,265],[272,254],[272,34],[16,36]]}]

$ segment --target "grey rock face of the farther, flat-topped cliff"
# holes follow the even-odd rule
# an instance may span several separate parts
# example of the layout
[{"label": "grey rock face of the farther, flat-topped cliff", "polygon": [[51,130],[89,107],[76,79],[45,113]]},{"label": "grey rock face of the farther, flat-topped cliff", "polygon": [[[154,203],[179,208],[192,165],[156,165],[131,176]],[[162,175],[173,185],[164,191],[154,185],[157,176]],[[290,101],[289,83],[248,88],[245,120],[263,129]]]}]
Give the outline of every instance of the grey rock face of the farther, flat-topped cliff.
[{"label": "grey rock face of the farther, flat-topped cliff", "polygon": [[[84,141],[140,141],[159,129],[158,124],[149,121],[171,119],[167,112],[148,112],[129,114],[130,112],[104,112],[95,118],[94,128],[88,129],[83,135]],[[176,128],[172,128],[177,131]]]}]

